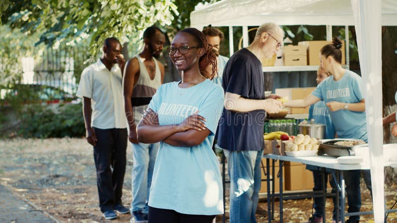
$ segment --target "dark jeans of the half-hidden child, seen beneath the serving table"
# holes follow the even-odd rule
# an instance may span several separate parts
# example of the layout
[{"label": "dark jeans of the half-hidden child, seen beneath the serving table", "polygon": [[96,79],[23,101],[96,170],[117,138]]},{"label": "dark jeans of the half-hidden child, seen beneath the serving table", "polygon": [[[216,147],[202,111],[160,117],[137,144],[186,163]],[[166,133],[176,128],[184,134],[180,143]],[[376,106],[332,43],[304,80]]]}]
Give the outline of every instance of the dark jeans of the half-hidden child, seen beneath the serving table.
[{"label": "dark jeans of the half-hidden child, seen beneath the serving table", "polygon": [[[313,179],[314,179],[314,188],[313,191],[320,191],[322,190],[322,171],[321,170],[312,170],[313,171]],[[328,173],[332,171],[331,169],[327,169],[327,173],[326,173],[326,181],[325,183],[327,183],[327,176],[329,175]],[[335,184],[335,180],[332,177],[332,174],[330,173],[330,184],[332,187],[332,193],[336,193],[336,184]],[[332,211],[332,220],[336,221],[336,197],[332,197],[332,201],[333,201],[333,211]],[[317,218],[323,218],[324,217],[324,213],[323,213],[323,205],[324,205],[324,198],[323,197],[315,197],[314,198],[314,217]],[[340,220],[340,205],[339,205],[339,220]]]}]

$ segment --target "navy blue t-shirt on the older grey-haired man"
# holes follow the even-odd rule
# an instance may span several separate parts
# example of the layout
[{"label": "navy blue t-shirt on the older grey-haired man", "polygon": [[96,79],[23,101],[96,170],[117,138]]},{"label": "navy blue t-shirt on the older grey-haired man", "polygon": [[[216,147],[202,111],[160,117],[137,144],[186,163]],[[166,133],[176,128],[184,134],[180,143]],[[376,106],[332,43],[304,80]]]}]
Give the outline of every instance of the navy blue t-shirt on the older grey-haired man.
[{"label": "navy blue t-shirt on the older grey-haired man", "polygon": [[[225,92],[238,94],[243,98],[265,99],[261,61],[245,48],[237,51],[223,70],[222,87]],[[235,112],[224,109],[218,127],[219,147],[230,151],[264,149],[264,120],[264,110]]]}]

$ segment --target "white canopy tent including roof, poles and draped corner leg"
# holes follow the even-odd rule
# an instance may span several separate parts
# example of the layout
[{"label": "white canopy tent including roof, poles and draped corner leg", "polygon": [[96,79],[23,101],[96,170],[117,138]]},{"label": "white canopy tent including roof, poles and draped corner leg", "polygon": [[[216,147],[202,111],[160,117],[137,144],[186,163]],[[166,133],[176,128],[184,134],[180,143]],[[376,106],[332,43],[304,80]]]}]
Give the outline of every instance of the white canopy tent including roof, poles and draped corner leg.
[{"label": "white canopy tent including roof, poles and draped corner leg", "polygon": [[327,25],[329,40],[331,25],[355,25],[366,95],[374,219],[384,222],[381,25],[397,26],[397,0],[221,0],[191,13],[191,27],[199,30],[211,24],[229,26],[232,33],[231,27],[243,26],[243,46],[248,45],[248,26],[264,22]]}]

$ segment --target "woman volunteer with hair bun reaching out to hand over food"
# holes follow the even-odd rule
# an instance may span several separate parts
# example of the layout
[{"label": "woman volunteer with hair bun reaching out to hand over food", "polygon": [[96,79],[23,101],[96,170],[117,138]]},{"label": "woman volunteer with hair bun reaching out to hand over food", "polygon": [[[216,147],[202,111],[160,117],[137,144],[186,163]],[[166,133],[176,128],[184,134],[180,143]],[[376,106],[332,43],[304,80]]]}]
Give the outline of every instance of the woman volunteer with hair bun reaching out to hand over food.
[{"label": "woman volunteer with hair bun reaching out to hand over food", "polygon": [[[342,43],[333,38],[332,44],[320,51],[321,67],[332,74],[320,83],[311,95],[303,100],[284,102],[283,106],[305,108],[316,102],[324,101],[328,107],[332,122],[339,138],[353,138],[367,141],[365,119],[365,100],[361,77],[341,66]],[[363,171],[367,187],[371,190],[369,171]],[[344,171],[348,209],[347,212],[359,212],[361,208],[360,170]],[[357,223],[359,216],[350,216],[348,223]]]}]

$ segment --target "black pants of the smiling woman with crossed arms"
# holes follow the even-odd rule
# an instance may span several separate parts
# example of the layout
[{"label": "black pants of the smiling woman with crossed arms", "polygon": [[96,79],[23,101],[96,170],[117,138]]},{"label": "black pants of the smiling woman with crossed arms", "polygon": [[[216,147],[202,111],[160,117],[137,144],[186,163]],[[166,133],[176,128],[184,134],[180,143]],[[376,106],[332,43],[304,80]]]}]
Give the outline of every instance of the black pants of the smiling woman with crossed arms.
[{"label": "black pants of the smiling woman with crossed arms", "polygon": [[213,223],[215,215],[187,215],[149,206],[148,223]]}]

